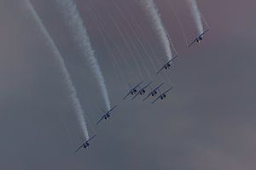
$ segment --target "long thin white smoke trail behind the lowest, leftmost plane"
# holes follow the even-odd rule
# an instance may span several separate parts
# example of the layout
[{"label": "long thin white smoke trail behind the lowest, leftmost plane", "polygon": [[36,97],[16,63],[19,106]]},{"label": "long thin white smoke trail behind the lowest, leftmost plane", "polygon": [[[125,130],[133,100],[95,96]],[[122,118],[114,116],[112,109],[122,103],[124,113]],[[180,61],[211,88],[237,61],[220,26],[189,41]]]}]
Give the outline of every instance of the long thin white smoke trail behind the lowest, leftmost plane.
[{"label": "long thin white smoke trail behind the lowest, leftmost plane", "polygon": [[80,105],[79,98],[77,97],[76,88],[73,85],[73,82],[72,82],[71,77],[67,71],[67,67],[64,63],[61,53],[60,53],[59,49],[55,46],[55,42],[53,41],[53,39],[49,36],[49,33],[46,30],[42,20],[39,18],[38,13],[36,12],[35,8],[33,8],[32,3],[30,3],[29,0],[24,0],[24,2],[26,3],[26,8],[32,14],[33,20],[35,20],[35,22],[37,23],[44,39],[46,40],[49,48],[51,49],[51,52],[53,53],[55,60],[57,61],[57,63],[60,66],[61,74],[64,78],[64,81],[67,84],[68,94],[70,95],[69,97],[73,103],[73,108],[78,117],[80,126],[82,127],[82,130],[84,132],[84,137],[86,139],[89,139],[89,133],[87,130],[85,119],[84,119],[84,111],[82,109],[82,106]]}]

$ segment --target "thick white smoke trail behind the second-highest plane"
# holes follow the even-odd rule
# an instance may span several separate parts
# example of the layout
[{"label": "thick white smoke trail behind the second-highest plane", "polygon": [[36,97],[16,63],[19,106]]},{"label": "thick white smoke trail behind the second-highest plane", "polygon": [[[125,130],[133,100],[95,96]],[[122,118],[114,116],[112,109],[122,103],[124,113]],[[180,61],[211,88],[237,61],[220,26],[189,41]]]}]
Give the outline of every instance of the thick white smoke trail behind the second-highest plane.
[{"label": "thick white smoke trail behind the second-highest plane", "polygon": [[153,0],[141,0],[143,4],[143,8],[148,13],[148,16],[150,17],[151,23],[154,27],[154,31],[157,32],[158,36],[160,37],[160,41],[165,48],[166,56],[168,60],[172,59],[172,50],[171,45],[167,37],[166,29],[164,27],[164,24],[160,18],[160,14],[158,12],[158,9],[156,8]]}]

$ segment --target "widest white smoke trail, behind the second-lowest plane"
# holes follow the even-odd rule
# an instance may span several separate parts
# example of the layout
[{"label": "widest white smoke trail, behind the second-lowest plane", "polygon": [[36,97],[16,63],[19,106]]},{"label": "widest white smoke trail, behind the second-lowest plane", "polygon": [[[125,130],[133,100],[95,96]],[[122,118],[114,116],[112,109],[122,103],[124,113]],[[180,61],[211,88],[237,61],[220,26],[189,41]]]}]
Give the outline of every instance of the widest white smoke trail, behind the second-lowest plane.
[{"label": "widest white smoke trail, behind the second-lowest plane", "polygon": [[82,50],[82,54],[88,60],[89,65],[98,81],[98,85],[101,89],[103,99],[105,101],[108,111],[111,109],[110,100],[108,96],[108,90],[100,65],[95,56],[95,51],[91,47],[90,38],[87,34],[87,30],[84,26],[83,19],[79,14],[79,10],[73,0],[56,0],[61,6],[61,13],[63,14],[70,31],[73,34],[74,40],[78,43],[79,48]]}]

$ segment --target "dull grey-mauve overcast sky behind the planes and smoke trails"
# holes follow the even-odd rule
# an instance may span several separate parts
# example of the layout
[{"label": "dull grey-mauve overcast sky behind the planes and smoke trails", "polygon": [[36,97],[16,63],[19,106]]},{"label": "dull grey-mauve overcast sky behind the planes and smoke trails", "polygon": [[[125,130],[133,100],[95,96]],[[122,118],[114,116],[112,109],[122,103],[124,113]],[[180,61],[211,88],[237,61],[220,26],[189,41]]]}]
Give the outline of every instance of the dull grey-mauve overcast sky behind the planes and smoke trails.
[{"label": "dull grey-mauve overcast sky behind the planes and smoke trails", "polygon": [[[140,25],[146,37],[140,30],[131,29],[113,1],[126,20]],[[31,0],[65,59],[90,122],[90,135],[97,134],[88,150],[74,154],[82,132],[55,59],[23,1],[0,0],[1,169],[254,170],[256,2],[198,0],[211,31],[201,45],[187,48],[172,11],[174,8],[191,40],[196,29],[185,0],[155,0],[179,55],[167,77],[155,77],[149,59],[162,61],[165,53],[143,8],[138,0],[113,1],[75,0],[108,84],[112,105],[118,105],[109,122],[95,127],[102,116],[100,107],[104,107],[96,79],[75,46],[55,1]],[[108,11],[131,48],[134,44],[139,49],[135,54],[143,80],[150,80],[146,65],[154,86],[165,80],[164,88],[174,87],[164,101],[155,105],[150,104],[151,99],[142,102],[140,97],[122,101],[129,88],[126,83],[134,84],[141,77]],[[92,12],[100,22],[91,18]],[[104,28],[104,37],[119,67],[112,64],[99,25]],[[148,56],[135,32],[153,54]],[[125,65],[124,58],[130,65]],[[160,63],[154,64],[160,67]]]}]

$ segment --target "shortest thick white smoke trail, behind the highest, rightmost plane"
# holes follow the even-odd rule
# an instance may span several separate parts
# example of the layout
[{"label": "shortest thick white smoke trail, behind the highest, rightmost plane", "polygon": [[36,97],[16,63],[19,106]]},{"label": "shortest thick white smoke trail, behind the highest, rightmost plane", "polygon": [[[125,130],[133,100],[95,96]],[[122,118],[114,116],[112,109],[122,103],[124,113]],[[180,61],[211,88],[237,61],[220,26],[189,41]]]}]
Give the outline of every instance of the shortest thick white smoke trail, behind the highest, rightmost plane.
[{"label": "shortest thick white smoke trail, behind the highest, rightmost plane", "polygon": [[203,24],[202,24],[202,20],[201,20],[201,13],[199,11],[197,3],[195,0],[187,0],[187,2],[189,3],[189,6],[191,8],[191,13],[195,20],[198,34],[201,34],[204,31],[204,28],[203,28]]}]

